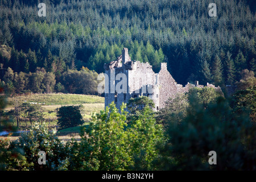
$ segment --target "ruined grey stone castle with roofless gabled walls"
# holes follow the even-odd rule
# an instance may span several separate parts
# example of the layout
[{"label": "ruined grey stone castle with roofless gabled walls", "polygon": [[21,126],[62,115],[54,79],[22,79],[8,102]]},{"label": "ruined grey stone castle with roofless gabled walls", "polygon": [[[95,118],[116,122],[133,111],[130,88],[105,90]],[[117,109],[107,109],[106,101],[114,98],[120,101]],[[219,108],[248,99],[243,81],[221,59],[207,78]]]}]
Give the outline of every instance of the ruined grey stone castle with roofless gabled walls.
[{"label": "ruined grey stone castle with roofless gabled walls", "polygon": [[[185,86],[177,84],[167,70],[167,63],[161,63],[159,73],[155,73],[150,64],[131,60],[127,48],[123,48],[122,55],[117,60],[105,64],[104,69],[108,76],[105,86],[110,85],[105,88],[105,107],[114,101],[119,109],[122,102],[127,103],[132,97],[147,96],[154,101],[154,110],[158,111],[164,107],[168,98],[174,98],[177,93],[188,92],[195,86],[204,87],[198,81]],[[220,89],[208,83],[207,86]]]}]

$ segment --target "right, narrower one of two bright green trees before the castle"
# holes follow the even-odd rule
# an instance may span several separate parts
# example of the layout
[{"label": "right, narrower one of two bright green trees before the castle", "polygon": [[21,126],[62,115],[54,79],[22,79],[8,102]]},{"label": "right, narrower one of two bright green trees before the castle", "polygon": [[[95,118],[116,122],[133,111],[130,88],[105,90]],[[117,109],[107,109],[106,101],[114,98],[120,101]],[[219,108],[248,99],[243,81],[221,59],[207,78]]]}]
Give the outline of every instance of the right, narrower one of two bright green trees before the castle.
[{"label": "right, narrower one of two bright green trees before the castle", "polygon": [[152,108],[144,107],[138,117],[134,117],[127,129],[130,155],[133,162],[130,168],[133,170],[156,170],[154,162],[159,158],[159,148],[166,142],[162,124],[156,123]]}]

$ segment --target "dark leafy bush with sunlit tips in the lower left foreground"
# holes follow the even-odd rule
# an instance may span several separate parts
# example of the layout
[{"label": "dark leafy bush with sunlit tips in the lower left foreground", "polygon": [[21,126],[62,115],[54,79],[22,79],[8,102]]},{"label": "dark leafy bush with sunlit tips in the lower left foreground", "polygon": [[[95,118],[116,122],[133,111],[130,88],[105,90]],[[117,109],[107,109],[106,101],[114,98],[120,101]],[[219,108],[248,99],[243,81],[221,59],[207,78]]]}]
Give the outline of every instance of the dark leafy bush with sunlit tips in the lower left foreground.
[{"label": "dark leafy bush with sunlit tips in the lower left foreground", "polygon": [[[64,170],[68,156],[64,145],[56,136],[56,130],[49,131],[46,123],[35,123],[31,131],[23,133],[18,140],[10,143],[9,150],[16,151],[9,158],[8,169],[19,170]],[[39,164],[39,151],[46,152],[46,164]]]}]

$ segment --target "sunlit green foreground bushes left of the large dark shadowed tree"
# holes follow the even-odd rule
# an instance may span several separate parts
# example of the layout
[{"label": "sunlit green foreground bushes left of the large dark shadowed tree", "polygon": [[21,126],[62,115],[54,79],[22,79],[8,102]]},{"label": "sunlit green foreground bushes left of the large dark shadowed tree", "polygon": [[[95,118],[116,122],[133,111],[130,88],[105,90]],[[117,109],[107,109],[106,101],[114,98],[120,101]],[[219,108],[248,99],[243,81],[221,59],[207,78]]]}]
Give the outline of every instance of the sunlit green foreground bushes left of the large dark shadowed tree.
[{"label": "sunlit green foreground bushes left of the large dark shadowed tree", "polygon": [[[89,126],[82,127],[81,141],[64,144],[55,131],[38,123],[18,140],[0,142],[1,163],[7,170],[126,170],[156,169],[158,145],[163,145],[161,125],[146,108],[137,119],[126,123],[125,105],[112,103],[93,115]],[[46,165],[39,165],[39,151],[46,152]]]}]

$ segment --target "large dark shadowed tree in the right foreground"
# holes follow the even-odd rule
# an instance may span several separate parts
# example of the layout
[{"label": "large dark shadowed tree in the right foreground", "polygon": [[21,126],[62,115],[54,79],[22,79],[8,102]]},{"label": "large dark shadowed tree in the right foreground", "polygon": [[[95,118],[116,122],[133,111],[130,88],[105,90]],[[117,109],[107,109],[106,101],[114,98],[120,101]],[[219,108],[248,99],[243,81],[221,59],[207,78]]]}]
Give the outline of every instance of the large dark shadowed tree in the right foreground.
[{"label": "large dark shadowed tree in the right foreground", "polygon": [[[187,116],[180,123],[170,123],[170,140],[162,150],[159,165],[167,170],[248,169],[243,166],[249,160],[244,160],[245,153],[253,152],[244,150],[243,143],[247,132],[251,133],[248,116],[233,113],[229,102],[222,97],[207,109],[196,98],[189,98],[193,105],[188,107]],[[216,151],[217,165],[209,165],[209,151]]]}]

